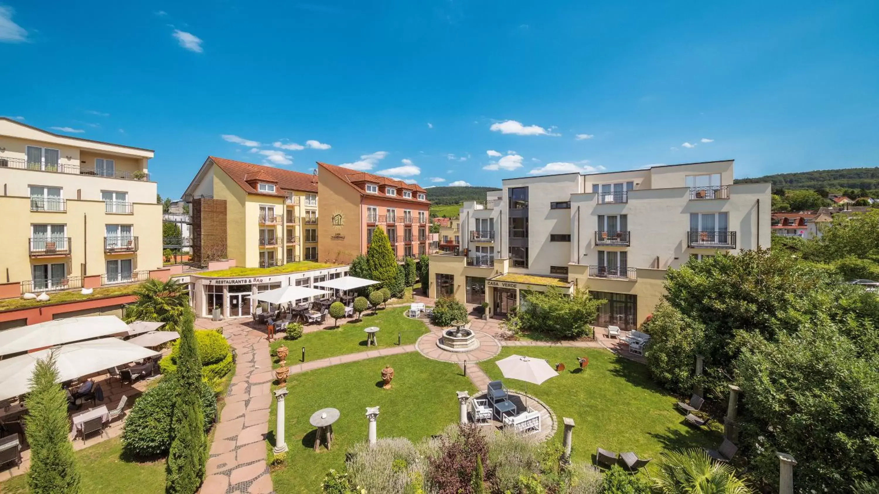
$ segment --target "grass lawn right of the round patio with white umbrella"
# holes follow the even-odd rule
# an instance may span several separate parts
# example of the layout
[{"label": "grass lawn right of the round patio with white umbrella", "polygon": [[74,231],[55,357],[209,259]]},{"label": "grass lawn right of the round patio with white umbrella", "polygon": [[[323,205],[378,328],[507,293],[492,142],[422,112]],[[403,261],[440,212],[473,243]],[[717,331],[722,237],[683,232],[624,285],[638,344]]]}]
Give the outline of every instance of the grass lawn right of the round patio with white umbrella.
[{"label": "grass lawn right of the round patio with white umbrella", "polygon": [[[575,460],[592,461],[596,447],[657,458],[666,448],[716,447],[722,440],[720,432],[701,432],[682,424],[684,416],[675,410],[678,398],[650,381],[642,364],[605,350],[519,346],[503,348],[479,367],[491,379],[503,379],[494,362],[514,353],[546,359],[551,366],[563,362],[567,367],[527,389],[556,412],[560,424],[563,417],[574,419]],[[580,373],[575,369],[582,356],[588,357],[589,367]],[[525,389],[523,381],[504,379],[504,383],[507,388]],[[561,440],[562,429],[560,425],[556,440]]]}]

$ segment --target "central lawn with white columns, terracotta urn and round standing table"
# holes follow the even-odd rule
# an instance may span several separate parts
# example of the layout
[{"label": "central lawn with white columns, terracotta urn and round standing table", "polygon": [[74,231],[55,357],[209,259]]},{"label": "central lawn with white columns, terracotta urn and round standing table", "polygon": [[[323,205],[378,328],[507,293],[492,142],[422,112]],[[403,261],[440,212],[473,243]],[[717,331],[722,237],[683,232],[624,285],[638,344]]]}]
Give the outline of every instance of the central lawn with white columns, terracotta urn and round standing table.
[{"label": "central lawn with white columns, terracotta urn and round standing table", "polygon": [[[381,389],[381,368],[394,367],[393,388]],[[377,421],[382,438],[406,437],[420,440],[442,431],[458,419],[455,391],[473,392],[461,369],[451,363],[428,360],[418,352],[360,360],[293,374],[287,381],[287,462],[272,471],[276,492],[320,492],[329,469],[341,469],[345,450],[367,440],[367,406],[380,406]],[[311,414],[325,407],[336,408],[340,417],[333,425],[331,451],[314,447],[315,428]],[[274,442],[275,404],[269,419],[269,440]],[[271,451],[271,446],[269,450]]]}]

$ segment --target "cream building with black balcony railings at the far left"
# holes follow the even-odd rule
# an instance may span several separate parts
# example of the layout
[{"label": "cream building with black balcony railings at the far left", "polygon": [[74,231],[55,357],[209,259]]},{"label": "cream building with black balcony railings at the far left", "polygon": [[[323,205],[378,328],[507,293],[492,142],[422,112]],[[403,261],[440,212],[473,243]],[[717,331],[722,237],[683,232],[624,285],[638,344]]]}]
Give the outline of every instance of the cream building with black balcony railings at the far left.
[{"label": "cream building with black balcony railings at the far left", "polygon": [[0,280],[23,293],[146,279],[162,267],[149,149],[0,118]]}]

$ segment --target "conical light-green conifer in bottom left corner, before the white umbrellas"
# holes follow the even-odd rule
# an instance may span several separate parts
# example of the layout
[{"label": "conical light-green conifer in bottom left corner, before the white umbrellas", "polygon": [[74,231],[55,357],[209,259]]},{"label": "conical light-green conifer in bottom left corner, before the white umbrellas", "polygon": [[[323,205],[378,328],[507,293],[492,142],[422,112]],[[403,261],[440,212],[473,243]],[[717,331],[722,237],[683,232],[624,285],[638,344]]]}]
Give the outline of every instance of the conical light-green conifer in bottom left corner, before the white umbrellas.
[{"label": "conical light-green conifer in bottom left corner, before the white umbrellas", "polygon": [[27,486],[35,494],[78,494],[83,491],[73,443],[68,434],[67,395],[59,384],[54,353],[38,360],[25,403],[25,435],[31,445]]}]

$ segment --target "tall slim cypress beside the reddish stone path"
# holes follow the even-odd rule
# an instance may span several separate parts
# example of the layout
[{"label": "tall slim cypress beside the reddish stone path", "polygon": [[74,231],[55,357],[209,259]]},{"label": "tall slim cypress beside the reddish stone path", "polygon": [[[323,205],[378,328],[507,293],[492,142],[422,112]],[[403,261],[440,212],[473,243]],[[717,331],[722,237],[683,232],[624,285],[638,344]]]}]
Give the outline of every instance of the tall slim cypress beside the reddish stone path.
[{"label": "tall slim cypress beside the reddish stone path", "polygon": [[207,441],[201,410],[201,359],[193,330],[194,315],[188,312],[180,323],[177,372],[171,421],[171,449],[168,452],[165,492],[194,494],[205,475]]}]

